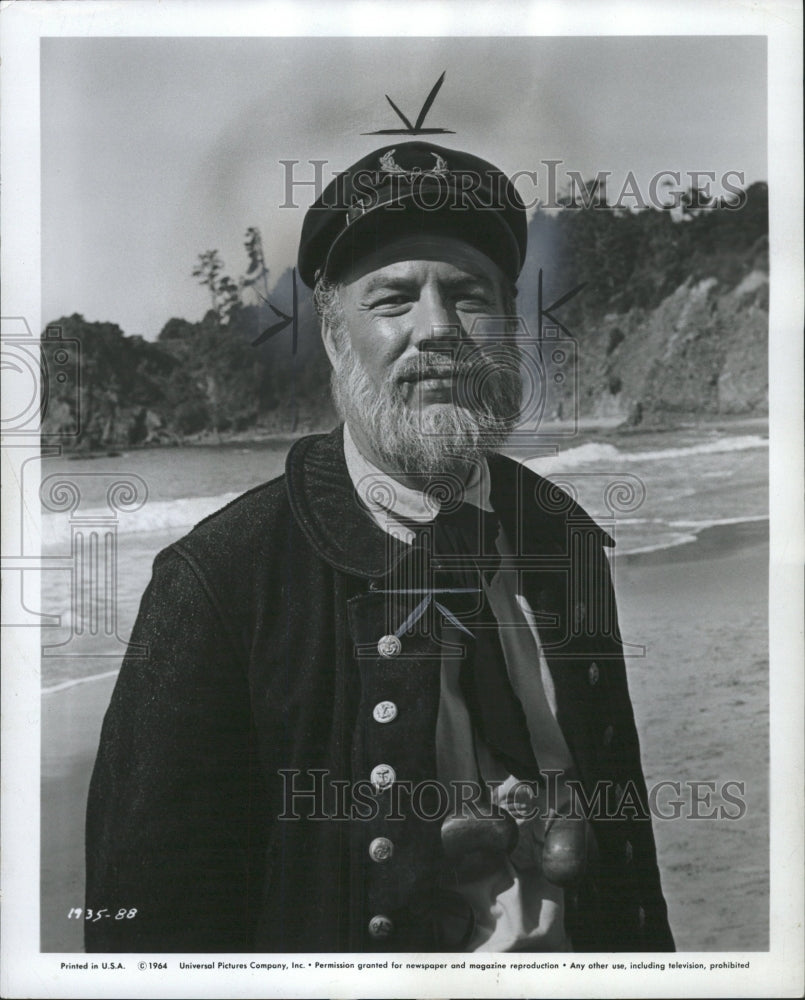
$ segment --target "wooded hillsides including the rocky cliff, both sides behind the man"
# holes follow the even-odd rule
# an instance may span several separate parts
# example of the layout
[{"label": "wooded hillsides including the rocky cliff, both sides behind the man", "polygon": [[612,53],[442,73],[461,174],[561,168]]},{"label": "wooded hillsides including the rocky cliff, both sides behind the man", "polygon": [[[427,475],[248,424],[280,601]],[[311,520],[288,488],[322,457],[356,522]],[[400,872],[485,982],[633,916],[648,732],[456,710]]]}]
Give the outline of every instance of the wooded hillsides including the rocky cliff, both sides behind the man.
[{"label": "wooded hillsides including the rocky cliff, both sides behind the man", "polygon": [[[767,272],[768,194],[765,184],[745,194],[739,209],[703,204],[692,192],[673,215],[567,203],[532,217],[518,311],[538,335],[540,287],[545,309],[583,285],[554,313],[563,335],[579,345],[582,413],[635,423],[675,409],[719,412],[727,405],[719,381],[727,385],[729,365],[732,412],[742,398],[762,410],[762,288],[754,281],[751,302],[735,293],[748,276]],[[244,245],[248,264],[237,281],[217,251],[199,254],[192,273],[206,289],[209,310],[196,323],[168,319],[154,342],[78,313],[48,323],[62,339],[80,343],[81,365],[78,382],[50,381],[45,433],[58,434],[78,416],[78,446],[95,449],[330,426],[329,365],[310,293],[291,269],[269,293],[256,228]],[[677,329],[676,312],[702,287],[699,311]],[[718,298],[730,295],[723,303]],[[736,355],[744,317],[751,319],[751,357]],[[690,368],[685,391],[675,389],[664,401],[657,396],[663,356],[666,363],[682,358]]]}]

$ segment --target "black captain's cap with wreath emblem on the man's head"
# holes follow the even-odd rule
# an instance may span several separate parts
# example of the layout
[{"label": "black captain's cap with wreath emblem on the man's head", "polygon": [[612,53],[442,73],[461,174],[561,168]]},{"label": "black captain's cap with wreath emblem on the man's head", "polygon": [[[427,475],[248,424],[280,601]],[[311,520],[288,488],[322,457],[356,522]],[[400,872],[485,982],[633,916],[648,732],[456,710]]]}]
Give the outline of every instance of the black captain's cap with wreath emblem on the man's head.
[{"label": "black captain's cap with wreath emblem on the man's head", "polygon": [[384,146],[338,174],[308,209],[299,276],[312,288],[402,236],[451,236],[512,281],[527,243],[525,206],[498,167],[429,142]]}]

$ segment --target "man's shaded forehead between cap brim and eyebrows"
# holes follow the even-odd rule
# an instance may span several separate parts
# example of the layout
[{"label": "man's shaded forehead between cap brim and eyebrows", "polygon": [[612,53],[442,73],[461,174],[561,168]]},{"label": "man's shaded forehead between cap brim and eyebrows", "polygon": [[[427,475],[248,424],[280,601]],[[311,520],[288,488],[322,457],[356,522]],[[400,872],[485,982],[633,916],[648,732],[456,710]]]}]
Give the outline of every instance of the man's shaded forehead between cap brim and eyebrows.
[{"label": "man's shaded forehead between cap brim and eyebrows", "polygon": [[504,276],[494,261],[463,240],[443,236],[407,236],[379,247],[357,261],[343,276],[341,284],[360,282],[362,287],[389,280],[415,280],[438,267],[442,277],[464,275],[502,287]]}]

